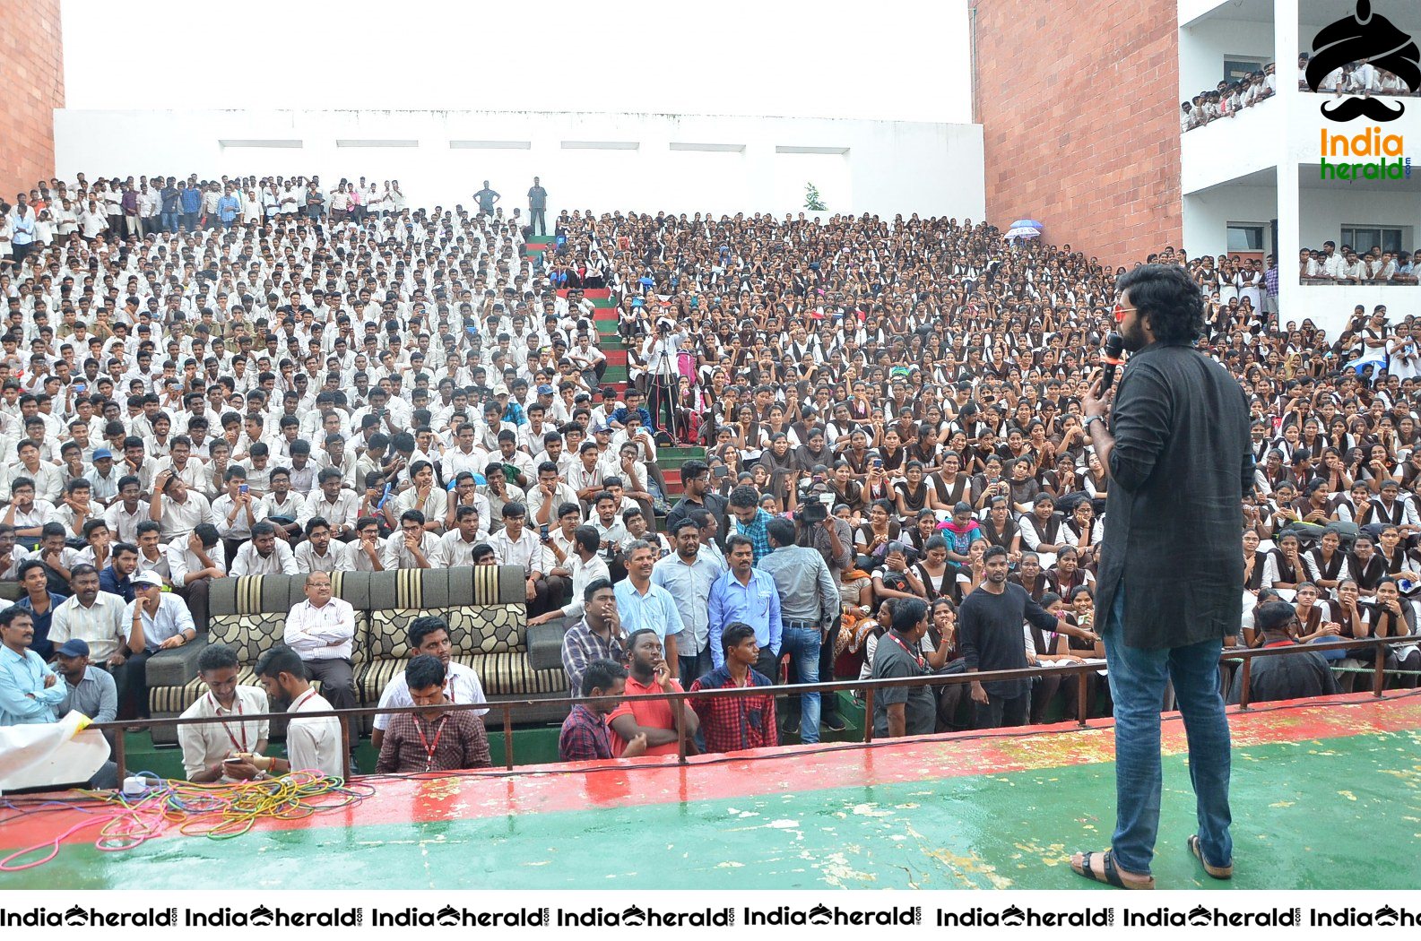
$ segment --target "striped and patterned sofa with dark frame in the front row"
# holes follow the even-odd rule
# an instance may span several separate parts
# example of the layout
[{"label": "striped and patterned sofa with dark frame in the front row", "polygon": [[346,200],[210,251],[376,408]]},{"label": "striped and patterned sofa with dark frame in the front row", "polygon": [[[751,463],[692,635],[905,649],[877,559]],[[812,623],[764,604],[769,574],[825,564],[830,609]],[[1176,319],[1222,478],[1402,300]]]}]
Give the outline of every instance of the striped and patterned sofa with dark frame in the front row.
[{"label": "striped and patterned sofa with dark frame in the front row", "polygon": [[[391,678],[405,668],[411,621],[438,614],[449,621],[453,658],[479,674],[490,701],[549,701],[546,709],[516,712],[514,722],[560,722],[567,714],[560,631],[549,625],[527,627],[519,566],[337,571],[331,583],[335,597],[355,608],[355,692],[365,705],[375,705]],[[206,637],[148,661],[153,718],[176,716],[205,692],[198,678],[198,655],[209,642],[236,648],[242,662],[237,682],[259,685],[253,667],[263,652],[281,642],[287,613],[306,600],[304,584],[306,576],[213,581]],[[487,721],[502,718],[490,714]],[[171,743],[178,736],[172,728],[158,728],[153,741]]]}]

